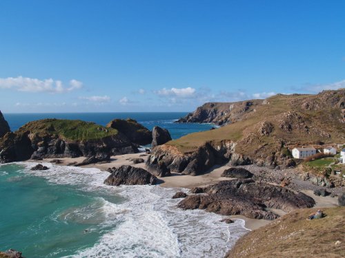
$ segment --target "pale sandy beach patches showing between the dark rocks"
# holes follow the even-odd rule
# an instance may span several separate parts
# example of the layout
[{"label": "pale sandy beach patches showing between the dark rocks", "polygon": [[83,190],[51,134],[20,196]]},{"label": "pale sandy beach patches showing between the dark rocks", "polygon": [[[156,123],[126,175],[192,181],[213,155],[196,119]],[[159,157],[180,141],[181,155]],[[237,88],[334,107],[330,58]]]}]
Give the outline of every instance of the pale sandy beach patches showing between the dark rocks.
[{"label": "pale sandy beach patches showing between the dark rocks", "polygon": [[[133,164],[132,159],[135,158],[142,158],[144,159],[144,162],[139,163],[139,164]],[[86,168],[97,168],[102,171],[106,171],[109,168],[112,167],[119,167],[122,165],[130,165],[130,166],[135,166],[135,167],[140,167],[145,169],[145,162],[148,158],[148,155],[146,153],[133,153],[133,154],[125,154],[125,155],[116,155],[112,156],[110,158],[110,162],[108,163],[103,163],[103,164],[88,164],[86,166],[81,166],[81,167],[86,167]],[[59,158],[61,160],[60,164],[57,164],[59,166],[71,166],[73,164],[77,164],[79,162],[82,162],[85,159],[85,157],[79,157],[79,158]],[[42,162],[51,162],[54,159],[44,159]],[[32,160],[32,162],[37,162],[36,160]],[[221,173],[225,169],[228,169],[229,166],[224,165],[224,166],[215,166],[213,169],[210,169],[210,171],[207,171],[206,173],[202,175],[181,175],[179,173],[172,173],[171,176],[169,177],[164,177],[164,178],[159,178],[161,180],[160,186],[162,187],[170,187],[170,188],[185,188],[185,189],[192,189],[193,187],[197,186],[206,186],[208,184],[215,184],[219,181],[222,180],[231,180],[230,178],[223,178],[221,177]],[[262,168],[259,168],[262,169]],[[250,171],[253,170],[253,166],[250,166]],[[314,208],[328,208],[328,207],[335,207],[337,206],[337,198],[331,197],[331,196],[317,196],[313,193],[311,190],[304,190],[302,191],[306,195],[309,195],[313,197],[315,200],[316,204]],[[277,213],[278,215],[284,215],[284,211],[281,210],[274,210],[274,213]],[[250,219],[247,217],[244,217],[242,215],[232,215],[229,216],[230,218],[233,219],[244,219],[246,222],[246,228],[250,230],[255,230],[257,228],[260,228],[262,226],[265,226],[267,224],[270,224],[271,221],[264,220],[264,219]]]}]

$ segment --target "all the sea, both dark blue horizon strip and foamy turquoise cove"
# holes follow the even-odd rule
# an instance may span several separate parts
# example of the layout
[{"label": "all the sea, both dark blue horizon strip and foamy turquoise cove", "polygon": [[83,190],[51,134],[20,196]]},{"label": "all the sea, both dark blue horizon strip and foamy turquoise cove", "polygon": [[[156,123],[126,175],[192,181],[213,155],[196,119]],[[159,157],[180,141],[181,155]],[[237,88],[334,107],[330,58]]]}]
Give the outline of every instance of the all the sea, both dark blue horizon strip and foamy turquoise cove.
[{"label": "all the sea, both dark blue horizon strip and foamy turquoise cove", "polygon": [[[134,118],[172,138],[212,125],[175,124],[185,113],[4,114],[12,130],[41,118],[81,119],[106,125]],[[24,257],[224,257],[248,230],[242,219],[183,211],[171,197],[187,189],[161,186],[106,186],[109,173],[73,166],[30,171],[32,162],[0,166],[0,250]]]}]

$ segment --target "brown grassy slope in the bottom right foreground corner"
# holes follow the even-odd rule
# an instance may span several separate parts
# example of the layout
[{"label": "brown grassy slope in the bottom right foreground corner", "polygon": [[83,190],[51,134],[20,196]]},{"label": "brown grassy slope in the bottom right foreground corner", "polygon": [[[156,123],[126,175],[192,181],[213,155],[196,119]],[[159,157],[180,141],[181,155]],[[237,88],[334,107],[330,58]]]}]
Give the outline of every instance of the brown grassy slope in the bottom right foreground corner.
[{"label": "brown grassy slope in the bottom right foreground corner", "polygon": [[324,208],[326,217],[306,220],[316,210],[293,211],[251,231],[226,257],[345,257],[345,207]]}]

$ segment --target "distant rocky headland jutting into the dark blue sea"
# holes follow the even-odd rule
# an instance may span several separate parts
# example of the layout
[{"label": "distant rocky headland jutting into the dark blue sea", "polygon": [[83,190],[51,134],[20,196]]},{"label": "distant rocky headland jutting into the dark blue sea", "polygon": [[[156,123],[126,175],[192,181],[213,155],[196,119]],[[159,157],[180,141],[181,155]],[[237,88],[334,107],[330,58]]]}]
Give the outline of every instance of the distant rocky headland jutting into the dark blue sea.
[{"label": "distant rocky headland jutting into the dark blue sea", "polygon": [[215,125],[226,125],[242,120],[246,114],[255,111],[255,108],[262,104],[263,100],[206,103],[177,122],[211,122]]}]

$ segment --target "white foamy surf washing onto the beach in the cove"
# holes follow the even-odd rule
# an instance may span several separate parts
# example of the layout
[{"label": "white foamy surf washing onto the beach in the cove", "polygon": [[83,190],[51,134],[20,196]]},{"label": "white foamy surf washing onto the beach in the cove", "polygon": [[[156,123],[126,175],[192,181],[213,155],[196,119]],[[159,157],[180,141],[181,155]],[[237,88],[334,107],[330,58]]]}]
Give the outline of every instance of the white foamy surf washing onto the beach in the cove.
[{"label": "white foamy surf washing onto the beach in the cove", "polygon": [[26,173],[44,177],[51,184],[73,184],[83,191],[124,197],[121,204],[99,197],[95,204],[70,208],[58,215],[85,224],[95,224],[99,219],[99,223],[114,225],[94,246],[69,257],[224,257],[235,241],[248,231],[242,219],[225,224],[219,222],[220,215],[177,208],[179,200],[171,197],[176,191],[186,189],[106,186],[103,181],[109,173],[99,169],[48,163],[44,164],[50,167],[47,171],[30,171],[35,164],[23,164],[28,167]]}]

